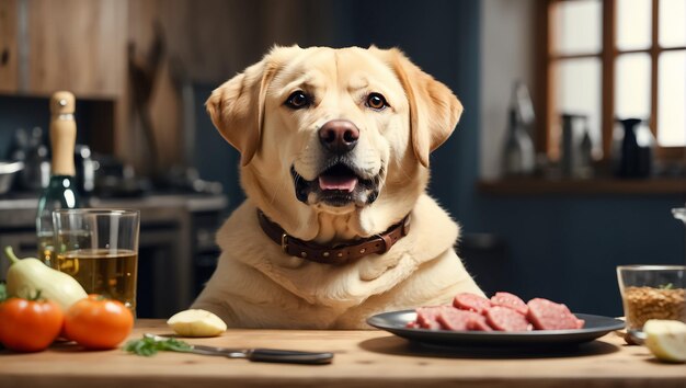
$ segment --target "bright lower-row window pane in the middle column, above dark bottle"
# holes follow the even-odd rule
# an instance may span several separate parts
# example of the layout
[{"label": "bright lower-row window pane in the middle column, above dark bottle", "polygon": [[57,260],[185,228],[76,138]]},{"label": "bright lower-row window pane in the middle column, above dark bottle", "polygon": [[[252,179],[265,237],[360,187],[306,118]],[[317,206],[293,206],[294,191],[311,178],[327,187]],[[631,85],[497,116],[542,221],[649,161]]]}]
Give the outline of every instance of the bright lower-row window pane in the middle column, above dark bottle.
[{"label": "bright lower-row window pane in the middle column, above dark bottle", "polygon": [[625,54],[617,57],[615,95],[617,117],[650,117],[650,56],[648,54]]}]

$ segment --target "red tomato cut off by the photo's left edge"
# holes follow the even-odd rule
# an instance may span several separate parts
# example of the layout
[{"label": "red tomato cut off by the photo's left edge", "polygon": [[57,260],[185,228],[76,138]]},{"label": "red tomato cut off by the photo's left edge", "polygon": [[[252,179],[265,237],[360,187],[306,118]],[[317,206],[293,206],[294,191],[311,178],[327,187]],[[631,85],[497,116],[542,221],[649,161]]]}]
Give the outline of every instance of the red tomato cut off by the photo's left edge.
[{"label": "red tomato cut off by the photo's left edge", "polygon": [[55,341],[62,322],[52,300],[9,298],[0,304],[0,342],[16,352],[38,352]]}]

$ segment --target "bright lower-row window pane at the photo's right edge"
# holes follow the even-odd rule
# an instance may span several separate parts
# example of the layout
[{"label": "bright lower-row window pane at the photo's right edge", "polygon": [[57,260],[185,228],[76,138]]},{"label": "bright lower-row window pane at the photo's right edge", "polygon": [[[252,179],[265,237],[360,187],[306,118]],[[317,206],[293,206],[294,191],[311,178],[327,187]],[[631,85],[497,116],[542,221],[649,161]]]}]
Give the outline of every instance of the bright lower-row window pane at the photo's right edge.
[{"label": "bright lower-row window pane at the photo's right edge", "polygon": [[658,144],[686,146],[686,50],[667,52],[658,65]]}]

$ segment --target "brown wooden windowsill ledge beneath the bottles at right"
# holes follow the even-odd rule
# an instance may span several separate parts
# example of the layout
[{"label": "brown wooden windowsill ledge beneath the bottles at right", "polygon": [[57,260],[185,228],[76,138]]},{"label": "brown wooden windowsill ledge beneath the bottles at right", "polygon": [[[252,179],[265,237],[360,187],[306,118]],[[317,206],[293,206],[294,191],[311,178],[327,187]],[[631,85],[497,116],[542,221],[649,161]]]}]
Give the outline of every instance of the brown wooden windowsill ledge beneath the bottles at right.
[{"label": "brown wooden windowsill ledge beneath the bottles at right", "polygon": [[503,179],[480,181],[478,191],[489,195],[664,195],[685,194],[686,179],[653,178],[643,180],[591,179],[546,180],[540,178]]}]

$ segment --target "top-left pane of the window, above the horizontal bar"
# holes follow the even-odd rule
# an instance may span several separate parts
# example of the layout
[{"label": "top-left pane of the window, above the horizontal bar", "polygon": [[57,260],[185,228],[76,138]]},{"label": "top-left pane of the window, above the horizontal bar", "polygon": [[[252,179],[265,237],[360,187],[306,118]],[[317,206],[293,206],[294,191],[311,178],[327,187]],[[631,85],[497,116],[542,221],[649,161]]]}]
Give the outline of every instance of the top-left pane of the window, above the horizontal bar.
[{"label": "top-left pane of the window, above the horizontal bar", "polygon": [[552,33],[558,54],[596,54],[601,52],[598,0],[562,1],[553,8]]}]

